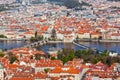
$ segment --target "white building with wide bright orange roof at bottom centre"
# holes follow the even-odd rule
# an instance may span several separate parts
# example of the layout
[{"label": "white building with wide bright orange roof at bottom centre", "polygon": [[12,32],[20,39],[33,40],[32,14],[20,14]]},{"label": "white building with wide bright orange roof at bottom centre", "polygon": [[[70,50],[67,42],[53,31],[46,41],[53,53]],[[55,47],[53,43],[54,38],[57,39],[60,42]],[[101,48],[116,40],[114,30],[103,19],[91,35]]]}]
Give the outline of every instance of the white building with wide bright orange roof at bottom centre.
[{"label": "white building with wide bright orange roof at bottom centre", "polygon": [[59,77],[59,80],[80,80],[80,71],[74,67],[56,67],[48,75]]}]

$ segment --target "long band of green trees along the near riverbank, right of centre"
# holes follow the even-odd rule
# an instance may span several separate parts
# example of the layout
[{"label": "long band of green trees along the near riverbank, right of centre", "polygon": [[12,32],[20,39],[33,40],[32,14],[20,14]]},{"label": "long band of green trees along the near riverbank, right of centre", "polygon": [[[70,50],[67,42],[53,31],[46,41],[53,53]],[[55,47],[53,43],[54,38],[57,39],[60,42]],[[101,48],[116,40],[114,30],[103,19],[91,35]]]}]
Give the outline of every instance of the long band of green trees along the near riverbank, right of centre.
[{"label": "long band of green trees along the near riverbank, right of centre", "polygon": [[93,64],[96,64],[97,62],[101,61],[102,63],[108,66],[110,66],[113,63],[120,63],[120,57],[110,57],[108,55],[107,50],[104,50],[103,53],[100,54],[91,49],[78,51],[64,49],[63,52],[58,54],[58,59],[62,60],[63,64],[65,64],[68,61],[71,61],[73,58],[82,58],[84,60],[84,63],[90,62]]}]

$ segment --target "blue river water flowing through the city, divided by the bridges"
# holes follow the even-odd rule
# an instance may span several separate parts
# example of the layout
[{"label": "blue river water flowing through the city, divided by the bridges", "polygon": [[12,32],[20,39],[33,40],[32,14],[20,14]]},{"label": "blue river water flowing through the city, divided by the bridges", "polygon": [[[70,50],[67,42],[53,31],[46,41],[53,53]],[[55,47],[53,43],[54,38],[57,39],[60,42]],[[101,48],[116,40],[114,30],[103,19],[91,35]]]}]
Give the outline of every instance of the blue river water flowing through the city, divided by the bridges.
[{"label": "blue river water flowing through the city, divided by the bridges", "polygon": [[[25,41],[0,41],[0,49],[12,49],[18,48],[26,45],[27,42]],[[109,51],[114,51],[120,54],[120,43],[111,43],[111,42],[80,42],[80,44],[86,45],[91,48],[98,49],[99,51],[103,51],[105,49]],[[68,48],[74,50],[81,50],[84,49],[72,43],[54,43],[54,44],[47,44],[40,47],[37,47],[39,50],[48,51],[49,48],[55,47],[57,49]]]}]

